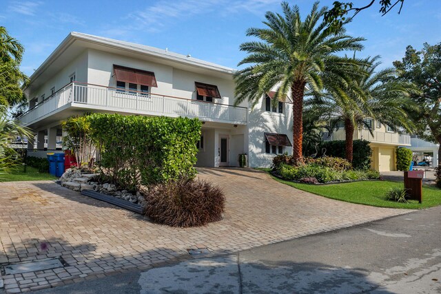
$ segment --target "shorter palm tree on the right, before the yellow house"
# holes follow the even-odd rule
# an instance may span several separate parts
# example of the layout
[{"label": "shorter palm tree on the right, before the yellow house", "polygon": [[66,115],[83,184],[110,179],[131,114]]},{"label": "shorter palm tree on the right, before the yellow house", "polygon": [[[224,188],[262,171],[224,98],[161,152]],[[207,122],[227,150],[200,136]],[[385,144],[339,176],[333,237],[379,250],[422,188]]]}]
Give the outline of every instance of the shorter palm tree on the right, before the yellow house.
[{"label": "shorter palm tree on the right, before the yellow house", "polygon": [[335,80],[333,75],[322,76],[327,81],[326,91],[308,101],[308,105],[316,105],[327,113],[331,131],[343,123],[345,155],[349,162],[353,159],[353,133],[356,128],[365,127],[373,136],[373,125],[367,119],[377,120],[395,131],[399,127],[408,132],[413,129],[409,119],[413,103],[409,97],[418,93],[418,88],[412,83],[398,81],[397,72],[393,68],[376,72],[381,64],[379,58],[375,56],[365,59],[365,65],[360,68],[365,75],[349,74],[346,78],[348,83]]}]

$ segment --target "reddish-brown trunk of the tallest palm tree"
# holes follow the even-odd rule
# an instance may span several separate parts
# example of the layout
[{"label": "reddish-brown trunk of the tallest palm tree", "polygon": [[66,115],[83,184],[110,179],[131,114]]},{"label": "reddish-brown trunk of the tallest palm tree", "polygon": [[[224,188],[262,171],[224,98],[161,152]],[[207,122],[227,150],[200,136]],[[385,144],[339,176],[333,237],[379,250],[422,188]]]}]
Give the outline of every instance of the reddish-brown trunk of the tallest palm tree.
[{"label": "reddish-brown trunk of the tallest palm tree", "polygon": [[303,142],[303,96],[305,94],[305,82],[295,81],[291,86],[292,110],[293,110],[293,138],[292,156],[296,162],[302,162]]}]

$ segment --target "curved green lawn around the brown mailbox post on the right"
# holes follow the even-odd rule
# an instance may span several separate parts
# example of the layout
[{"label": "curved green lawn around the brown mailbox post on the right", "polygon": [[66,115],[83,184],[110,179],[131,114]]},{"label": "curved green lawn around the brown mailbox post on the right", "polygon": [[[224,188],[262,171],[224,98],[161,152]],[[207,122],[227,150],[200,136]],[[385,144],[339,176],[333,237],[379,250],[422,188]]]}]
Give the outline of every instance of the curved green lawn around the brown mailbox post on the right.
[{"label": "curved green lawn around the brown mailbox post on the right", "polygon": [[[266,171],[268,170],[266,169]],[[280,180],[280,178],[272,175],[271,177],[285,185],[320,196],[376,207],[423,209],[441,205],[441,189],[427,185],[424,185],[422,188],[422,204],[415,200],[410,200],[409,203],[398,203],[386,200],[386,193],[392,187],[402,186],[400,182],[363,181],[332,185],[307,185]]]}]

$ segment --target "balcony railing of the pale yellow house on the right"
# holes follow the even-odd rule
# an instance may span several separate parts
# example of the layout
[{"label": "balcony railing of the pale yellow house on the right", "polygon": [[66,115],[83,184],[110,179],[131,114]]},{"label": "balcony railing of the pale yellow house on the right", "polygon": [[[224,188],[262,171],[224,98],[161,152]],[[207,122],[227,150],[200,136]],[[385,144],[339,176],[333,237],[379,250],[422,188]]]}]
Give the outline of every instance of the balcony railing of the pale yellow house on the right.
[{"label": "balcony railing of the pale yellow house on the right", "polygon": [[[324,132],[322,134],[322,138],[325,141],[332,140],[345,140],[346,134],[344,129],[338,129],[336,132],[329,134],[328,132]],[[378,132],[374,131],[373,136],[367,129],[356,129],[353,133],[353,140],[368,140],[371,143],[381,143],[387,145],[401,145],[401,146],[410,146],[411,145],[411,136],[402,135],[391,132]]]}]

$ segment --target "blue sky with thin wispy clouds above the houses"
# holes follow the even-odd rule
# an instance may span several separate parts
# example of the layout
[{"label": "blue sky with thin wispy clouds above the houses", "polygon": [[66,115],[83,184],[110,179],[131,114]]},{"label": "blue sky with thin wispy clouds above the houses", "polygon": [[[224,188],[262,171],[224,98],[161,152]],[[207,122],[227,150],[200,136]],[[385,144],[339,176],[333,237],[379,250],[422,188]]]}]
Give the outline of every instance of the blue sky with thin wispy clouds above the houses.
[{"label": "blue sky with thin wispy clouds above the houses", "polygon": [[[321,1],[321,6],[331,6]],[[367,3],[368,0],[353,0]],[[25,47],[21,69],[30,75],[71,31],[96,34],[181,54],[192,54],[220,65],[236,67],[245,56],[238,46],[245,30],[262,27],[265,12],[279,12],[279,0],[160,0],[160,1],[12,1],[1,0],[0,25]],[[377,1],[378,2],[378,1]],[[302,16],[313,1],[289,1]],[[436,4],[435,4],[436,3]],[[383,67],[400,59],[407,45],[441,41],[438,1],[406,0],[402,13],[384,17],[377,6],[360,12],[347,26],[364,36],[359,56],[380,55]]]}]

